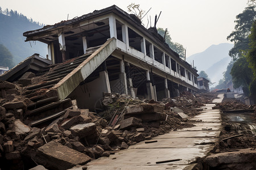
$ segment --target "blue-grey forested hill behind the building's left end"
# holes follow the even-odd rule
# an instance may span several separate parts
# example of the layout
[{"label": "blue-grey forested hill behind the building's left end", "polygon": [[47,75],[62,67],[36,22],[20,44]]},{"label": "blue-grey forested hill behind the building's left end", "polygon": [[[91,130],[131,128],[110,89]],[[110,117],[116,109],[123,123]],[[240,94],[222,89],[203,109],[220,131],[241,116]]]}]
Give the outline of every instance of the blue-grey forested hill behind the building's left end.
[{"label": "blue-grey forested hill behind the building's left end", "polygon": [[42,25],[32,22],[32,19],[27,19],[16,11],[11,11],[7,15],[0,13],[0,25],[0,44],[6,46],[13,54],[15,65],[34,53],[46,57],[47,45],[42,42],[24,42],[26,37],[23,37],[23,32],[42,28]]}]

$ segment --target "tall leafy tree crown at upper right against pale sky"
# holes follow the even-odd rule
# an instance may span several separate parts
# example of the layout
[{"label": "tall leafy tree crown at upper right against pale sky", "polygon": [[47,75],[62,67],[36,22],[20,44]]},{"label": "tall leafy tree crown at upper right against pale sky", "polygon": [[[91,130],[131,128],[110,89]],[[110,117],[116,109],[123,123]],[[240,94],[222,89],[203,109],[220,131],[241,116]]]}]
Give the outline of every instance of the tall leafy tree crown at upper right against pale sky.
[{"label": "tall leafy tree crown at upper right against pale sky", "polygon": [[234,47],[229,51],[229,56],[234,60],[242,56],[242,50],[249,49],[248,35],[256,18],[255,7],[255,5],[248,6],[236,16],[235,31],[227,37],[227,40],[234,42]]}]

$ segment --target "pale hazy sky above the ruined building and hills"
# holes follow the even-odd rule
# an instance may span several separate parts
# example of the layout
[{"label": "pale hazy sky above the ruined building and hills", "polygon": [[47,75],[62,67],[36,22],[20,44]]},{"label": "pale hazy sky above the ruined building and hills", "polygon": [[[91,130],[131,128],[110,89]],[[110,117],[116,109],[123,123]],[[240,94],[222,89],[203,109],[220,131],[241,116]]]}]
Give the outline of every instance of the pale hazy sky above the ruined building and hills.
[{"label": "pale hazy sky above the ruined building and hills", "polygon": [[[2,10],[16,10],[27,18],[43,24],[55,24],[94,10],[117,5],[127,12],[130,3],[140,4],[151,16],[162,14],[156,27],[168,28],[172,41],[187,48],[187,56],[203,52],[210,45],[229,42],[226,37],[234,30],[234,20],[247,6],[247,0],[141,0],[141,1],[88,1],[88,0],[0,0]],[[147,16],[143,18],[147,24]],[[0,25],[1,27],[1,25]]]}]

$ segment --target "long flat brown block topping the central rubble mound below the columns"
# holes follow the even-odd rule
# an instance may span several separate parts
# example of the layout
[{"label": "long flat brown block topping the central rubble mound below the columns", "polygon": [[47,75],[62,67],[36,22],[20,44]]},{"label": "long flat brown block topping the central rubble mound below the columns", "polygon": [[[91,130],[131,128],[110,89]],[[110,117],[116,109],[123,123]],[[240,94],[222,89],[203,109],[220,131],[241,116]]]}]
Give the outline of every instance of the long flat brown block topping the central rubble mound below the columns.
[{"label": "long flat brown block topping the central rubble mound below the columns", "polygon": [[125,107],[126,114],[137,114],[137,113],[162,113],[164,111],[164,106],[156,104],[138,104],[130,105]]}]

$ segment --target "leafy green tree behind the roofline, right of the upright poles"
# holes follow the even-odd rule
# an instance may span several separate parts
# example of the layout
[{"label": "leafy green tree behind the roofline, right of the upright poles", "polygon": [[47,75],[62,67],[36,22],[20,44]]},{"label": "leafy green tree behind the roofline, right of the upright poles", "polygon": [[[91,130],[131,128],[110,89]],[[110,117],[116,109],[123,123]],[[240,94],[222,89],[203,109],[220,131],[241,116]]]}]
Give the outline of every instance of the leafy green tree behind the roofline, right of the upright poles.
[{"label": "leafy green tree behind the roofline, right of the upright poles", "polygon": [[183,45],[177,43],[177,42],[172,42],[170,32],[165,31],[163,28],[158,28],[158,33],[164,37],[164,33],[166,33],[166,43],[170,46],[172,50],[174,50],[176,53],[179,54],[180,58],[185,58],[185,48]]}]

